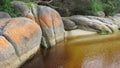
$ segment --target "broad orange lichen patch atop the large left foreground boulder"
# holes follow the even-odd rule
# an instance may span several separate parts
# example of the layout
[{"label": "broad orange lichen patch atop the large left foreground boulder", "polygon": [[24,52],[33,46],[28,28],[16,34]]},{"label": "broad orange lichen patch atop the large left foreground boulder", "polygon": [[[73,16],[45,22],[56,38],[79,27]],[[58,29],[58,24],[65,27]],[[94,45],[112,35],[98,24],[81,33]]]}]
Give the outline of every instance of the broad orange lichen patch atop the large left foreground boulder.
[{"label": "broad orange lichen patch atop the large left foreground boulder", "polygon": [[[26,21],[24,19],[13,19],[6,26],[6,33],[17,43],[20,44],[24,40],[24,37],[30,38],[37,32],[39,26],[36,23],[31,23],[31,20]],[[33,21],[32,21],[33,22]],[[18,25],[18,26],[17,26]],[[34,25],[34,26],[33,26]]]}]

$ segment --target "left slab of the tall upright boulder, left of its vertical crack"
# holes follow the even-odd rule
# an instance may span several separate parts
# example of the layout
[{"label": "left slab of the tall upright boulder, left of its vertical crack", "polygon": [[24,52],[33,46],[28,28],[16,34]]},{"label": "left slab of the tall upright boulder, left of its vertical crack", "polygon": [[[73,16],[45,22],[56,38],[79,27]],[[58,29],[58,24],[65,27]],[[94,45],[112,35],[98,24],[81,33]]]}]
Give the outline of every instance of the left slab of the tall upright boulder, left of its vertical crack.
[{"label": "left slab of the tall upright boulder, left of its vertical crack", "polygon": [[51,16],[51,8],[46,6],[39,6],[38,8],[38,14],[39,14],[39,25],[42,29],[42,45],[45,48],[52,47],[56,44],[55,41],[55,34],[53,30],[53,21]]}]

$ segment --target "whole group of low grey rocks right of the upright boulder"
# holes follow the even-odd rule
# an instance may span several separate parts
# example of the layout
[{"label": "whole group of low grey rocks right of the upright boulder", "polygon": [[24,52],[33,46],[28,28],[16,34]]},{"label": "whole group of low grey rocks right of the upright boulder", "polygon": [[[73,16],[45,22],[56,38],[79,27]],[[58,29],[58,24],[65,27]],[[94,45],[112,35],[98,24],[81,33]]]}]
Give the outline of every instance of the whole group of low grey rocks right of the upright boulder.
[{"label": "whole group of low grey rocks right of the upright boulder", "polygon": [[96,17],[74,15],[70,17],[62,17],[65,30],[83,29],[94,31],[99,34],[112,34],[120,29],[120,17]]}]

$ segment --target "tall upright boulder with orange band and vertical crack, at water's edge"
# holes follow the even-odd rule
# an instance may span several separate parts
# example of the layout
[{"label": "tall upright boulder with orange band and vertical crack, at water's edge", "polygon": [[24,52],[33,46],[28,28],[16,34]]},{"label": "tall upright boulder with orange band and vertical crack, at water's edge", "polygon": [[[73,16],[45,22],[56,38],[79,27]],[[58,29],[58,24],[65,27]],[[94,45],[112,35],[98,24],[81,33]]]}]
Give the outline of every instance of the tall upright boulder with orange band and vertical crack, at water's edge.
[{"label": "tall upright boulder with orange band and vertical crack, at water's edge", "polygon": [[39,6],[39,24],[43,31],[43,38],[46,48],[54,46],[64,40],[64,26],[62,19],[57,11],[50,7]]}]

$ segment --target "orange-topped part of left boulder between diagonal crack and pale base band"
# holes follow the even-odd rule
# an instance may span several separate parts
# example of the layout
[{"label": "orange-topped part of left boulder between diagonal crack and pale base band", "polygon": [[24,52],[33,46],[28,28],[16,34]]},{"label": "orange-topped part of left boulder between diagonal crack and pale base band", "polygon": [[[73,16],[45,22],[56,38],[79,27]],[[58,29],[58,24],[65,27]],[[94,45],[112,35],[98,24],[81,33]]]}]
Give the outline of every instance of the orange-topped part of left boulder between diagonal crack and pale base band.
[{"label": "orange-topped part of left boulder between diagonal crack and pale base band", "polygon": [[27,18],[10,20],[3,34],[15,43],[19,56],[39,46],[42,35],[40,27]]}]

